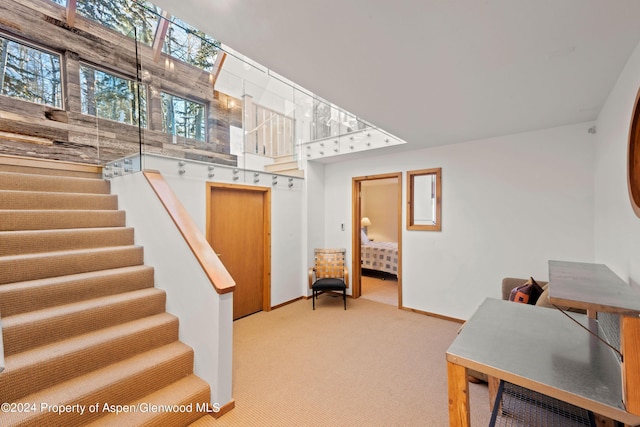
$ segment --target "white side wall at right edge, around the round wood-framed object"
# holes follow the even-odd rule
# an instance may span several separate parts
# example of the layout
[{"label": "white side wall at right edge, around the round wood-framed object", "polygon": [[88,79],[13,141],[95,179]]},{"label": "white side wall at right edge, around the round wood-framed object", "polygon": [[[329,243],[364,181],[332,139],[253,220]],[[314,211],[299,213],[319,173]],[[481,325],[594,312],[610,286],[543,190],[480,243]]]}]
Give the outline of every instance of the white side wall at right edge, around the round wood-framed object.
[{"label": "white side wall at right edge, around the round wood-framed object", "polygon": [[640,87],[640,45],[629,58],[597,120],[596,261],[623,280],[640,283],[640,219],[627,189],[627,147]]}]

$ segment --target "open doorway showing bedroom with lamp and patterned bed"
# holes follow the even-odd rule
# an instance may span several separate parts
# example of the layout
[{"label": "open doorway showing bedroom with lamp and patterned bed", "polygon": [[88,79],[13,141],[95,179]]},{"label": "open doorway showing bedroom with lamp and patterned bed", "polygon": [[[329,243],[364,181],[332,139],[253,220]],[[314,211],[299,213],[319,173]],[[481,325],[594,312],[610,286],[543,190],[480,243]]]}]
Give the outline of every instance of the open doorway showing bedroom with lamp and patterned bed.
[{"label": "open doorway showing bedroom with lamp and patterned bed", "polygon": [[402,173],[352,181],[352,294],[402,307]]}]

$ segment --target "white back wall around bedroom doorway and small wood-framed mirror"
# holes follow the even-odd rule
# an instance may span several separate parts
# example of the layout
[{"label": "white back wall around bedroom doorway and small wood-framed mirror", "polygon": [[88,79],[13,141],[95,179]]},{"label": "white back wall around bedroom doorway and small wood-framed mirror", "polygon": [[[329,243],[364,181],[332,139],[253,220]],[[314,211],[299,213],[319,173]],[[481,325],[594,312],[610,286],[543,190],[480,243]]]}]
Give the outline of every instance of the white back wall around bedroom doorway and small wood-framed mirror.
[{"label": "white back wall around bedroom doorway and small wood-framed mirror", "polygon": [[[467,319],[500,298],[502,277],[546,280],[549,259],[594,260],[592,125],[326,164],[325,244],[351,248],[352,177],[441,167],[442,231],[403,225],[402,301]],[[404,200],[406,175],[403,188]]]}]

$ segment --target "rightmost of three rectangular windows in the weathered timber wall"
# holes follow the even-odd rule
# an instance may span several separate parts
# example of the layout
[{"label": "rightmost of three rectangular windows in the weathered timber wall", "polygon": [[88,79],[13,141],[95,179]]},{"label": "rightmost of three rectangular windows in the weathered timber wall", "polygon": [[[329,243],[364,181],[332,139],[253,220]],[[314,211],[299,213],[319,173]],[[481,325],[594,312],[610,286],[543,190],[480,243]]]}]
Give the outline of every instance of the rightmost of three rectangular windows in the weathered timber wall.
[{"label": "rightmost of three rectangular windows in the weathered timber wall", "polygon": [[162,97],[162,130],[184,138],[206,140],[205,106],[168,93]]}]

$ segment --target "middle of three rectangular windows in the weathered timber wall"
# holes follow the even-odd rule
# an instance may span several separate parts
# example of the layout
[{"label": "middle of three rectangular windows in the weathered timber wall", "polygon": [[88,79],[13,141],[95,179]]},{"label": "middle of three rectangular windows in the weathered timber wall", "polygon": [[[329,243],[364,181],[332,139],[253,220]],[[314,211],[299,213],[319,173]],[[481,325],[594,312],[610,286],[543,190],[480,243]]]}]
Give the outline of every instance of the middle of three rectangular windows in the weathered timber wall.
[{"label": "middle of three rectangular windows in the weathered timber wall", "polygon": [[83,114],[146,127],[144,85],[81,64],[80,90]]}]

